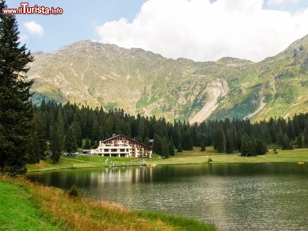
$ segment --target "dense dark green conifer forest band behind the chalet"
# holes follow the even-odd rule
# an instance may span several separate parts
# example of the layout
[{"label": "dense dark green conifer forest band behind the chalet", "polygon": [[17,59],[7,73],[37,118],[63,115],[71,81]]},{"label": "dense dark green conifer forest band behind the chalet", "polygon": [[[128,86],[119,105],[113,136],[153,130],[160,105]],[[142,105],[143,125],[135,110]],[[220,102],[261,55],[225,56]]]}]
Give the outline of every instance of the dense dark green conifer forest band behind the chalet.
[{"label": "dense dark green conifer forest band behind the chalet", "polygon": [[[99,140],[110,138],[112,134],[123,134],[150,145],[154,139],[153,152],[168,158],[174,149],[192,150],[193,146],[213,146],[218,152],[241,152],[243,156],[265,154],[267,146],[278,145],[282,149],[308,147],[308,114],[294,115],[291,120],[283,117],[251,123],[249,119],[207,120],[202,123],[167,122],[164,118],[153,116],[129,115],[123,109],[105,111],[76,103],[55,103],[42,101],[34,105],[35,135],[42,149],[49,141],[52,152],[60,153],[65,149],[73,152],[82,147],[96,148]],[[91,140],[91,142],[90,142]],[[43,155],[43,150],[41,154]],[[39,156],[37,160],[39,160]]]}]

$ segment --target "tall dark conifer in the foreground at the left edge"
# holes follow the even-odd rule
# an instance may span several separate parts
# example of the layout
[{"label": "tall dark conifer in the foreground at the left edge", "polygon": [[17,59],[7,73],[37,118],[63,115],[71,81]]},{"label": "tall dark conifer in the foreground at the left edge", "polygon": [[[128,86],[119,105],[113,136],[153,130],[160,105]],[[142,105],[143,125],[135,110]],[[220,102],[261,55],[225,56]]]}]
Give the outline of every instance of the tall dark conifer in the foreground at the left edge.
[{"label": "tall dark conifer in the foreground at the left edge", "polygon": [[0,172],[26,173],[26,156],[31,155],[32,103],[28,101],[33,80],[25,81],[33,62],[30,51],[18,42],[19,31],[14,14],[0,1]]}]

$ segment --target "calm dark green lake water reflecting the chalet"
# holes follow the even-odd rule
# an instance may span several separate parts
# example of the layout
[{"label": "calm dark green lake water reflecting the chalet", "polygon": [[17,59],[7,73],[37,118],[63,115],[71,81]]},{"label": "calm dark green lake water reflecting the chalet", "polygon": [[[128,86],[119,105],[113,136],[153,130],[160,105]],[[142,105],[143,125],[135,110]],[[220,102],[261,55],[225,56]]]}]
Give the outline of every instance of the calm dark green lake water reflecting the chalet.
[{"label": "calm dark green lake water reflecting the chalet", "polygon": [[203,164],[27,174],[85,197],[214,222],[221,230],[308,230],[308,164]]}]

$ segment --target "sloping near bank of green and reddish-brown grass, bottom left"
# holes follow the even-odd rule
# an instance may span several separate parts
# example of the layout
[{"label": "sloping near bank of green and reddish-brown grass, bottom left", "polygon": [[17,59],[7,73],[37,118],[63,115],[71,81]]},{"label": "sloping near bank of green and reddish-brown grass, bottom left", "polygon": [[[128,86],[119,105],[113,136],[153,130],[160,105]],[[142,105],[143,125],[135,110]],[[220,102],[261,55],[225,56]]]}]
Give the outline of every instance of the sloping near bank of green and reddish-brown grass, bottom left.
[{"label": "sloping near bank of green and reddish-brown grass, bottom left", "polygon": [[0,176],[0,193],[0,230],[217,230],[189,218],[71,198],[24,178]]}]

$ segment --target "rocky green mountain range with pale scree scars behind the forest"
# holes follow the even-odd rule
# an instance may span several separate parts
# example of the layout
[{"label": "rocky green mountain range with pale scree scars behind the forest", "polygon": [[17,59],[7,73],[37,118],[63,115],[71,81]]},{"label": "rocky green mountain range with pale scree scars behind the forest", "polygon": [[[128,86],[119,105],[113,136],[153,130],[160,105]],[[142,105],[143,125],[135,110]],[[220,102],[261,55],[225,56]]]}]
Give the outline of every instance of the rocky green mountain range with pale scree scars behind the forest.
[{"label": "rocky green mountain range with pale scree scars behind the forest", "polygon": [[28,79],[34,79],[34,103],[120,107],[131,115],[190,122],[308,111],[308,35],[258,63],[231,57],[174,60],[90,40],[32,55]]}]

